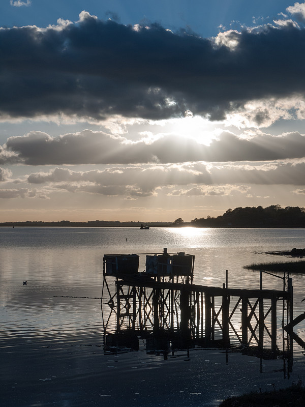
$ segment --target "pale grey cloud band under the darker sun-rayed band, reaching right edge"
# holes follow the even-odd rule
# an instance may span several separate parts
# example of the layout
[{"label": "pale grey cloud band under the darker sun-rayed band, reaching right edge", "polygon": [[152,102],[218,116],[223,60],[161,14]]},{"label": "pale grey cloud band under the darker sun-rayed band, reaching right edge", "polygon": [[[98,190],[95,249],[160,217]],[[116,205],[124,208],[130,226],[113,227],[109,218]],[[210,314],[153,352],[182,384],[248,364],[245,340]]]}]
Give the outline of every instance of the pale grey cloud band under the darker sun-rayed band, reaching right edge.
[{"label": "pale grey cloud band under the darker sun-rayed band, reaching right edge", "polygon": [[305,185],[305,161],[267,164],[187,163],[112,167],[104,170],[72,171],[55,168],[31,173],[29,184],[48,191],[146,198],[167,188],[168,196],[245,195],[250,185]]}]

